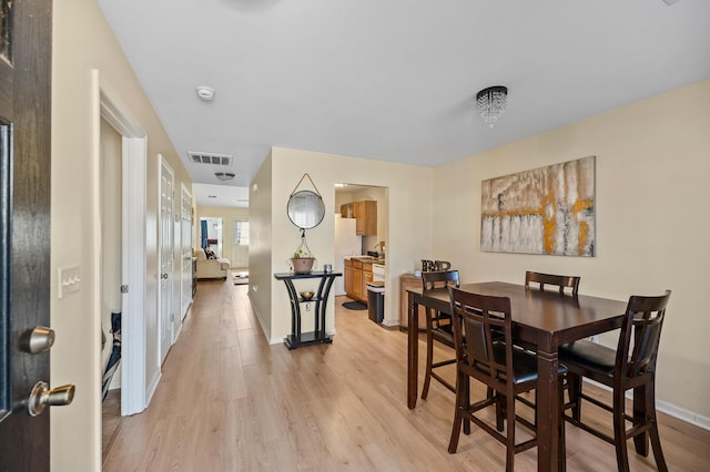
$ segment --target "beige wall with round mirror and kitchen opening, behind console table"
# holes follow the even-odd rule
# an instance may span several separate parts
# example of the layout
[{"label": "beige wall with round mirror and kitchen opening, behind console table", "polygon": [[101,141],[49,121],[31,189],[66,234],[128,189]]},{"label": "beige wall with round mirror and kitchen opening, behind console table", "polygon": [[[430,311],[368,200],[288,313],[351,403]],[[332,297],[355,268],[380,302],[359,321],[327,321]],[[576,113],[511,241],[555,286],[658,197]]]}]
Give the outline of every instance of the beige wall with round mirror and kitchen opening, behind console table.
[{"label": "beige wall with round mirror and kitchen opening, behind console table", "polygon": [[[288,196],[304,173],[313,178],[318,192],[323,196],[326,208],[335,206],[335,183],[348,182],[358,185],[373,185],[389,188],[389,245],[387,247],[388,284],[398,286],[398,276],[414,270],[417,260],[428,256],[432,248],[432,170],[427,167],[394,164],[382,161],[369,161],[355,157],[337,156],[333,154],[273,147],[268,160],[253,183],[257,183],[258,193],[250,195],[250,214],[252,238],[255,234],[267,237],[263,240],[260,252],[271,253],[271,265],[260,268],[262,273],[254,277],[250,252],[250,280],[256,284],[258,295],[252,299],[261,316],[271,320],[266,336],[271,342],[281,342],[291,332],[291,311],[288,297],[282,281],[273,277],[273,273],[288,271],[288,258],[301,244],[301,235],[286,215],[285,208]],[[271,178],[271,184],[266,182]],[[312,189],[310,184],[300,189]],[[263,191],[271,192],[264,194]],[[264,188],[266,187],[266,188]],[[267,204],[266,201],[271,199]],[[258,209],[257,207],[258,206]],[[257,213],[260,214],[257,216]],[[266,216],[268,215],[268,216]],[[271,218],[271,228],[266,229],[264,219]],[[335,256],[334,212],[327,212],[323,223],[306,232],[308,247],[315,254],[317,264],[333,263]],[[415,237],[416,236],[416,237]],[[266,261],[265,257],[262,257]],[[260,259],[260,260],[261,260]],[[314,285],[313,281],[303,283],[304,288]],[[298,288],[298,287],[296,287]],[[267,291],[270,295],[266,297]],[[333,302],[328,305],[326,330],[333,331]],[[385,298],[385,322],[396,325],[398,297]],[[304,326],[308,326],[306,321]]]}]

